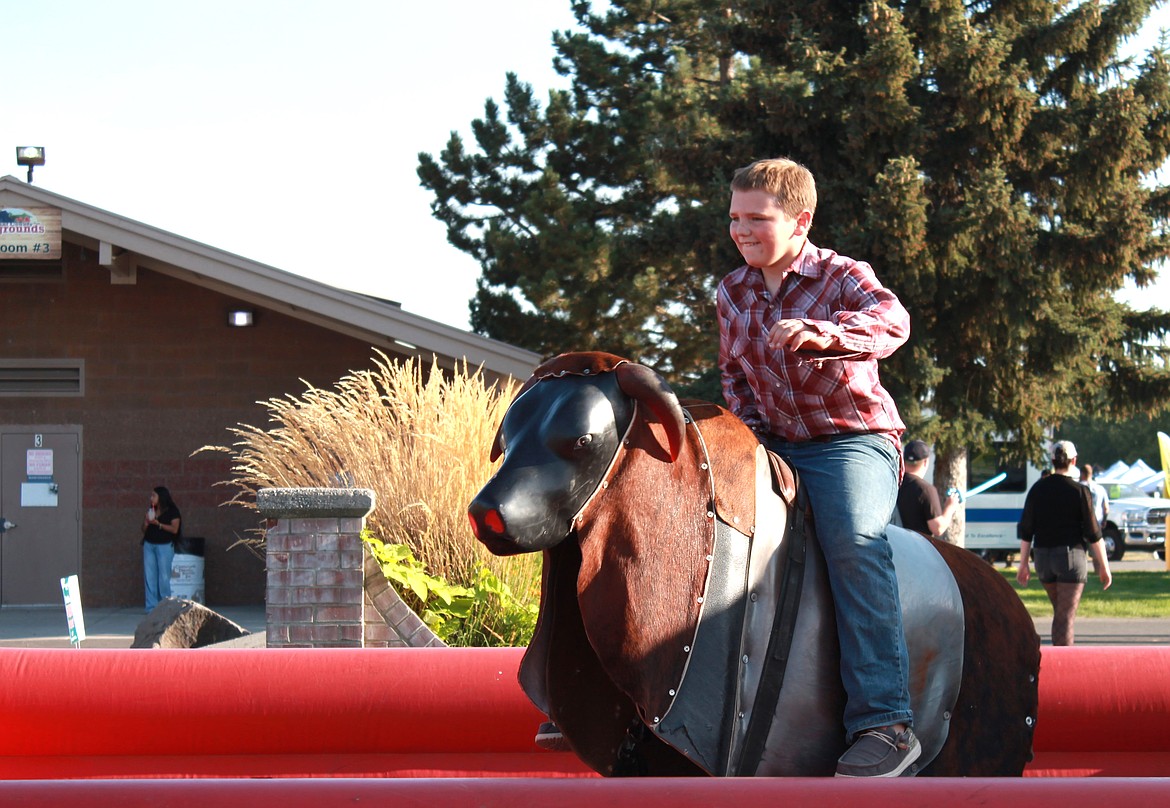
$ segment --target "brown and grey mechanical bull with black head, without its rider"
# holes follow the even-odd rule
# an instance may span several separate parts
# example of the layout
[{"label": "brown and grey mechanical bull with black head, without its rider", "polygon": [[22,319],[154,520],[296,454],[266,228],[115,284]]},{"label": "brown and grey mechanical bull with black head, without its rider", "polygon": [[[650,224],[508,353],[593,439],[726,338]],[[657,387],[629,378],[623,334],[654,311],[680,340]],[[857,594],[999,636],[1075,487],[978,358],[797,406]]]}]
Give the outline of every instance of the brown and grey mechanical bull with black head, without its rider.
[{"label": "brown and grey mechanical bull with black head, without its rider", "polygon": [[[605,353],[538,367],[472,502],[496,554],[544,553],[529,698],[601,774],[828,775],[845,692],[792,471],[727,409]],[[911,773],[1019,775],[1040,642],[965,550],[889,529],[910,652]]]}]

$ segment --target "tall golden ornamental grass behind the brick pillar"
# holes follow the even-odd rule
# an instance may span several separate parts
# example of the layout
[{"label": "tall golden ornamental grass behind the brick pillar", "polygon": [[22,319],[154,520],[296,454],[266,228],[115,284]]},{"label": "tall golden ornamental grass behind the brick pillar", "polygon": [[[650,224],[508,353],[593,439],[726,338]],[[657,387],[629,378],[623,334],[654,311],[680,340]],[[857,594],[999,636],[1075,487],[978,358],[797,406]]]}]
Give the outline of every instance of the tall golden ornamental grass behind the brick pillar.
[{"label": "tall golden ornamental grass behind the brick pillar", "polygon": [[[467,505],[491,476],[496,428],[518,385],[488,385],[467,364],[446,377],[378,352],[374,370],[353,371],[333,389],[269,399],[269,423],[229,429],[235,488],[228,504],[255,509],[262,488],[357,486],[374,491],[366,520],[386,545],[405,545],[426,572],[475,586],[487,567],[522,603],[539,600],[538,554],[497,558],[475,540]],[[245,539],[259,550],[263,534]]]}]

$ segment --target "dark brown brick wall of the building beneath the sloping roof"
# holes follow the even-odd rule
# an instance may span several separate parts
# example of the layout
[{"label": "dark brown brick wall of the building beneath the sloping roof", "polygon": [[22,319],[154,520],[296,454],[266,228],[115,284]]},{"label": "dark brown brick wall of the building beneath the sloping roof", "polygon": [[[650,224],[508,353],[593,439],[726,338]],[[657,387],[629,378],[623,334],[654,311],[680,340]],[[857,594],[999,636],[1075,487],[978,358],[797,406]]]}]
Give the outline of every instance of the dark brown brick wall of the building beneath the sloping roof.
[{"label": "dark brown brick wall of the building beneath the sloping roof", "polygon": [[254,327],[230,329],[230,295],[145,268],[111,284],[92,248],[67,243],[62,263],[58,282],[0,284],[0,346],[9,359],[83,360],[85,393],[0,398],[0,423],[81,427],[84,606],[142,605],[139,525],[156,485],[184,533],[206,539],[208,606],[262,602],[263,560],[229,550],[259,526],[254,511],[221,506],[235,492],[216,485],[230,456],[193,453],[233,443],[240,423],[268,428],[257,401],[329,388],[372,367],[373,350],[259,306]]}]

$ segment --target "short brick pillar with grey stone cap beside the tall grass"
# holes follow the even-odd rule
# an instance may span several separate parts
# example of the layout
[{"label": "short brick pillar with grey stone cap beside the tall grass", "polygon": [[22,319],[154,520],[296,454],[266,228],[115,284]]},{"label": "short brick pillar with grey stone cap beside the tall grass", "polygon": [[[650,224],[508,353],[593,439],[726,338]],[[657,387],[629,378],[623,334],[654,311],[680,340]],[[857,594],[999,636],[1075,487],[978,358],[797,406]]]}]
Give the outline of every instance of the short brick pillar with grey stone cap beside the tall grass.
[{"label": "short brick pillar with grey stone cap beside the tall grass", "polygon": [[267,534],[269,648],[364,645],[369,489],[261,489]]}]

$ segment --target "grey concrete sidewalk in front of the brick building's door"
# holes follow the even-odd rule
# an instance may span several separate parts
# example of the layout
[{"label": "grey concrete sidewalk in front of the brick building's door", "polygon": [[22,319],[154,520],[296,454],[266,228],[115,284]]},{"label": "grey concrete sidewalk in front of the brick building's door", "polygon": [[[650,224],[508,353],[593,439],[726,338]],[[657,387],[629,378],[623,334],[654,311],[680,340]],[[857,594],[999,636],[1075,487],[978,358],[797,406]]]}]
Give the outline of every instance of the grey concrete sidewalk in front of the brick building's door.
[{"label": "grey concrete sidewalk in front of the brick building's door", "polygon": [[[253,634],[266,628],[264,607],[208,606]],[[135,629],[146,615],[142,607],[82,609],[85,640],[82,648],[130,648]],[[0,648],[71,648],[64,606],[0,607]]]}]

